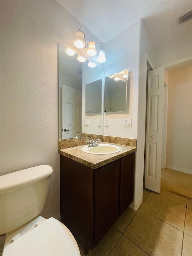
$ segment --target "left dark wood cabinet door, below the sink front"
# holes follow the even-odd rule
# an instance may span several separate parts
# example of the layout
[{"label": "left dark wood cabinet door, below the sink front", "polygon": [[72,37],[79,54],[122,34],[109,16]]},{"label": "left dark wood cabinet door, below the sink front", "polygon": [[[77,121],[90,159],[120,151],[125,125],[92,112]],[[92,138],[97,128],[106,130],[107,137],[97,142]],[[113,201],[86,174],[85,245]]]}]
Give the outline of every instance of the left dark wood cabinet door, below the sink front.
[{"label": "left dark wood cabinet door, below the sink front", "polygon": [[118,218],[119,166],[117,160],[95,170],[95,244]]}]

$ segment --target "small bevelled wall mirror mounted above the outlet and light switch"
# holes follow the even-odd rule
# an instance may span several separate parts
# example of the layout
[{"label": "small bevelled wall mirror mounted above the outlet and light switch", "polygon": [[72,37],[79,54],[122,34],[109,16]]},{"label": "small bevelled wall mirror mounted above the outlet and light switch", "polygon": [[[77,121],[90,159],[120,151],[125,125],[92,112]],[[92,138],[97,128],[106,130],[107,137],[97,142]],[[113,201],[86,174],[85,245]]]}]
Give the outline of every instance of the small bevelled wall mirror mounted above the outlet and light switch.
[{"label": "small bevelled wall mirror mounted above the outlet and light switch", "polygon": [[104,112],[127,112],[128,89],[128,69],[105,77]]}]

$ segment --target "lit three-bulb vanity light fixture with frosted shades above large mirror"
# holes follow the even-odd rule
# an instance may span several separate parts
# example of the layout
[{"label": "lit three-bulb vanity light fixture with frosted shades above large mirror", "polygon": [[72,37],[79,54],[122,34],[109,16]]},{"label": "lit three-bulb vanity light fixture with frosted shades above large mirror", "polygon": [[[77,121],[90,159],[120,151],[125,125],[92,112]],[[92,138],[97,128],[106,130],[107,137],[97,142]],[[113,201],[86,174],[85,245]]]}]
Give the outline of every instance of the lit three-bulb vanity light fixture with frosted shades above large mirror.
[{"label": "lit three-bulb vanity light fixture with frosted shades above large mirror", "polygon": [[[87,43],[85,39],[85,32],[83,28],[80,27],[79,30],[76,32],[76,39],[74,41],[74,45],[79,49],[84,48],[89,56],[95,56],[97,54],[97,51],[95,49],[95,44],[100,44],[100,43],[94,42],[92,36],[90,36],[89,42]],[[101,44],[100,46],[101,46],[101,49],[99,50],[99,56],[97,58],[97,61],[100,63],[103,63],[103,62],[106,62],[105,51],[103,50],[103,47]]]}]

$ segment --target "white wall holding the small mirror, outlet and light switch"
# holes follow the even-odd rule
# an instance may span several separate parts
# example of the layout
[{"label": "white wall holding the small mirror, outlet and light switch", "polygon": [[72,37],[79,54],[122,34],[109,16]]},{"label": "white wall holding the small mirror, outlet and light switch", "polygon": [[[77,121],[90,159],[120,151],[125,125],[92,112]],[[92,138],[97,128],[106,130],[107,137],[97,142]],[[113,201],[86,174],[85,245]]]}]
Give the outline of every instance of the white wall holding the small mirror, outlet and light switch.
[{"label": "white wall holding the small mirror, outlet and light switch", "polygon": [[[104,124],[106,136],[137,139],[139,37],[140,21],[105,44],[107,58],[104,64],[105,77],[127,68],[130,73],[129,113],[104,113],[104,120],[109,118],[110,124],[109,127],[105,127]],[[132,127],[123,127],[123,117],[132,117]]]}]

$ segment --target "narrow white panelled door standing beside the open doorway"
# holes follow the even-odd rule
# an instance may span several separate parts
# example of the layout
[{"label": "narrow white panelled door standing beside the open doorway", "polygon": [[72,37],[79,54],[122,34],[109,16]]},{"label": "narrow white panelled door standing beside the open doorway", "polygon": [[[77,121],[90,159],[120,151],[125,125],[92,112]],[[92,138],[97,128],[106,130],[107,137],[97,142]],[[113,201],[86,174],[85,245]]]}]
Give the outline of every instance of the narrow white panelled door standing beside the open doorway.
[{"label": "narrow white panelled door standing beside the open doorway", "polygon": [[160,193],[164,68],[149,71],[147,97],[145,188]]}]

